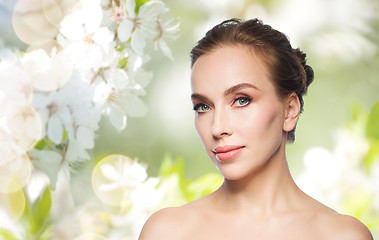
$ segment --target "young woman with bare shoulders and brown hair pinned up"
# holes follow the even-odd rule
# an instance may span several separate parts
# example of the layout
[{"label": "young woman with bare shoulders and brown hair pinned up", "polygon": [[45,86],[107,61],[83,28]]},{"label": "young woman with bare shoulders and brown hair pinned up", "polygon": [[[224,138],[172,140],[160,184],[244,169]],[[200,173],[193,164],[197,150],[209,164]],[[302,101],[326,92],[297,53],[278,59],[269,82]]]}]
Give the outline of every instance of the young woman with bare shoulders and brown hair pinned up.
[{"label": "young woman with bare shoulders and brown hair pinned up", "polygon": [[260,20],[230,19],[192,49],[196,130],[224,176],[214,193],[158,211],[140,240],[370,240],[357,219],[302,192],[285,147],[313,80],[305,54]]}]

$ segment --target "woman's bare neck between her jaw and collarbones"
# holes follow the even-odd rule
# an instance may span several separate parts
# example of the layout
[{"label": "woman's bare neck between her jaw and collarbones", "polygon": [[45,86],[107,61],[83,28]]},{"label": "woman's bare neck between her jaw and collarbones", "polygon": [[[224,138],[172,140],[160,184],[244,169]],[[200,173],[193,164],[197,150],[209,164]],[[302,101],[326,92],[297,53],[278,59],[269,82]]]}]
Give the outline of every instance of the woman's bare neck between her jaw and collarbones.
[{"label": "woman's bare neck between her jaw and collarbones", "polygon": [[219,194],[220,201],[225,201],[228,203],[227,206],[237,209],[250,208],[268,213],[295,207],[295,197],[301,194],[301,190],[296,186],[289,171],[285,144],[281,144],[278,151],[260,170],[244,179],[225,179]]}]

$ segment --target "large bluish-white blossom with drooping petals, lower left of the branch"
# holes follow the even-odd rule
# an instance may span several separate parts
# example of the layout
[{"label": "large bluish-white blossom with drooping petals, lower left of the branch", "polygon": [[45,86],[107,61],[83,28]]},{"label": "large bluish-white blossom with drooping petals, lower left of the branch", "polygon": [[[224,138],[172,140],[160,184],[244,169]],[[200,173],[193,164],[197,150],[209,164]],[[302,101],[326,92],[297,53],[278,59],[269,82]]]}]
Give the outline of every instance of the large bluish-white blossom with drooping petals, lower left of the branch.
[{"label": "large bluish-white blossom with drooping petals, lower left of the branch", "polygon": [[86,152],[94,146],[94,132],[98,129],[100,112],[92,102],[93,90],[81,81],[78,74],[61,89],[48,96],[36,94],[34,105],[46,123],[47,136],[55,144],[64,141],[68,146],[65,160],[70,163],[90,159]]}]

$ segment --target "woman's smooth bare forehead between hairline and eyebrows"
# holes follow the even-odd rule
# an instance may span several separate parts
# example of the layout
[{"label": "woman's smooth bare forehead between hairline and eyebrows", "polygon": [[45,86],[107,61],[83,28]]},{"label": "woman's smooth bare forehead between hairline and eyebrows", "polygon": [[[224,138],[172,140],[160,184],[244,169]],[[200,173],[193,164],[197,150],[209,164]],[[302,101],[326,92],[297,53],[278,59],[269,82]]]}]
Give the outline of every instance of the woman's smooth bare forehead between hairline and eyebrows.
[{"label": "woman's smooth bare forehead between hairline and eyebrows", "polygon": [[[205,87],[231,87],[246,82],[258,88],[272,87],[262,58],[246,46],[221,46],[201,55],[192,68],[192,91]],[[271,85],[271,86],[270,86]]]}]

